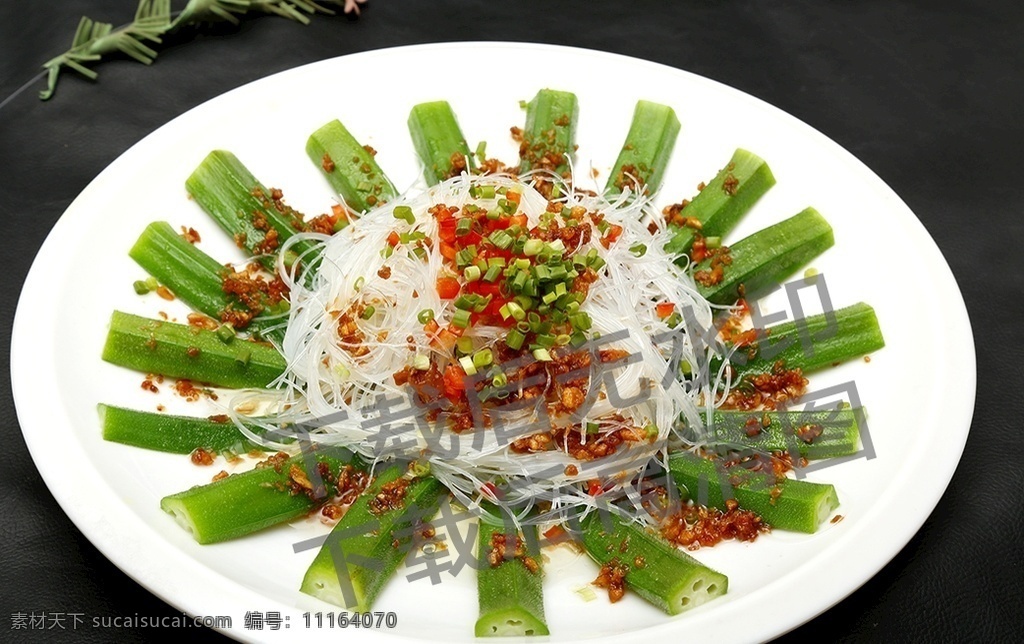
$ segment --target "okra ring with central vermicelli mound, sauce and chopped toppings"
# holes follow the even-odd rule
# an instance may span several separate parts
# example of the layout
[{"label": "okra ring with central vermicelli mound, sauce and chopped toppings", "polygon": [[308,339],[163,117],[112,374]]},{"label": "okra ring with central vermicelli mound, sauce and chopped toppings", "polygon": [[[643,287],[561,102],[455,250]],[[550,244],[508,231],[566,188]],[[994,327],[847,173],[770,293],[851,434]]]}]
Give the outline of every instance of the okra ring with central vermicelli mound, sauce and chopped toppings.
[{"label": "okra ring with central vermicelli mound, sauce and chopped toppings", "polygon": [[423,180],[404,195],[373,148],[325,124],[309,170],[338,199],[312,217],[211,152],[185,188],[243,264],[207,255],[191,228],[140,231],[136,292],[194,312],[115,311],[103,359],[153,387],[217,391],[221,413],[100,404],[104,438],[257,461],[167,490],[169,525],[212,544],[315,514],[333,527],[301,591],[369,611],[403,561],[444,548],[431,519],[447,504],[473,515],[465,574],[489,637],[549,633],[551,544],[586,552],[611,602],[635,593],[674,615],[728,590],[699,548],[835,519],[835,488],[791,472],[855,454],[864,410],[791,407],[813,372],[883,346],[874,312],[846,303],[761,329],[750,315],[834,244],[825,217],[780,213],[730,239],[775,183],[745,149],[708,160],[707,182],[670,204],[680,122],[644,100],[590,189],[575,95],[542,89],[524,109],[505,165],[470,148],[447,102],[412,106]]}]

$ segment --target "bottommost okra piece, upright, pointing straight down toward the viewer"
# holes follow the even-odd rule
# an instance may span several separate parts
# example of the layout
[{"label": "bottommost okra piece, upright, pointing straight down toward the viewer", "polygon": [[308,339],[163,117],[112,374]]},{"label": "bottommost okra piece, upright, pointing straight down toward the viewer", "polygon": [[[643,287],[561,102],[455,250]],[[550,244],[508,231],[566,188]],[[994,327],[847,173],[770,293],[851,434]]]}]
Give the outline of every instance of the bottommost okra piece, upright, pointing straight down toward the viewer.
[{"label": "bottommost okra piece, upright, pointing straight down toward the viewer", "polygon": [[[526,534],[528,530],[530,533]],[[537,525],[523,532],[480,521],[476,589],[480,617],[476,637],[549,635],[544,619],[543,572]],[[496,543],[497,542],[497,543]],[[521,548],[521,556],[512,555]]]}]

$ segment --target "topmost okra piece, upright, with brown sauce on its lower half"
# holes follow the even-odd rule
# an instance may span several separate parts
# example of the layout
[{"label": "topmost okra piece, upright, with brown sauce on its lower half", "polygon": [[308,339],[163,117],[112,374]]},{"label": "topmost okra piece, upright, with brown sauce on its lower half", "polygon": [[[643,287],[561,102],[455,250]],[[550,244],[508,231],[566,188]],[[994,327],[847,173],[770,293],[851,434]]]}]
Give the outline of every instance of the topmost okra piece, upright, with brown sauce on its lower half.
[{"label": "topmost okra piece, upright, with brown sauce on its lower half", "polygon": [[575,153],[580,102],[572,92],[542,89],[526,105],[519,172],[543,168],[562,175]]}]

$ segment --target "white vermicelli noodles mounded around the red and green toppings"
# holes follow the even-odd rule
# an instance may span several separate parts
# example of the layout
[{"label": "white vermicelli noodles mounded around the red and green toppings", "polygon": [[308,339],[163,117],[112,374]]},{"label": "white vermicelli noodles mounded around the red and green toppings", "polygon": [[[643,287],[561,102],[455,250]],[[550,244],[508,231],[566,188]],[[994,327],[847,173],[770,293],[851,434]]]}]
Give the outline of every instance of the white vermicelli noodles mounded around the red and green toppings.
[{"label": "white vermicelli noodles mounded around the red and green toppings", "polygon": [[[549,206],[529,177],[464,174],[370,211],[334,235],[298,234],[282,249],[284,256],[302,240],[318,245],[315,257],[303,258],[306,270],[286,271],[291,311],[281,349],[288,370],[276,383],[271,404],[278,424],[306,428],[308,440],[344,445],[371,461],[391,457],[427,461],[431,473],[467,506],[485,498],[514,506],[520,516],[542,500],[551,502],[553,510],[594,503],[583,484],[593,479],[606,481],[602,495],[625,493],[651,459],[664,456],[670,434],[681,422],[699,427],[719,383],[690,382],[681,375],[680,366],[708,363],[710,349],[694,347],[681,332],[685,325],[676,326],[678,319],[676,328],[670,328],[657,305],[673,303],[676,311],[685,311],[700,328],[711,327],[713,311],[685,267],[675,263],[678,258],[665,252],[671,232],[664,218],[655,216],[644,196],[627,190],[608,201],[573,192],[558,179],[545,179],[555,181],[556,194],[562,196],[557,201],[563,206],[583,207],[622,226],[608,248],[595,233],[583,247],[567,250],[586,254],[594,249],[604,260],[579,309],[592,320],[591,343],[631,355],[624,360],[627,363],[591,380],[592,404],[581,409],[582,418],[551,415],[544,409],[544,396],[539,396],[532,404],[514,405],[508,412],[500,404],[488,407],[487,426],[474,423],[470,431],[457,433],[441,421],[425,420],[410,387],[395,384],[395,374],[414,366],[417,356],[421,364],[427,359],[452,359],[450,350],[432,342],[420,318],[429,309],[443,327],[456,310],[453,300],[442,299],[436,288],[438,277],[451,272],[436,243],[437,220],[429,209],[436,205],[462,209],[467,204],[494,208],[497,199],[471,194],[473,186],[482,185],[521,192],[518,214],[526,216],[528,228],[538,225]],[[412,223],[395,216],[395,208],[402,206],[412,210]],[[388,251],[395,233],[427,242],[398,244]],[[347,325],[349,338],[358,341],[346,342],[340,325]],[[476,325],[466,336],[477,347],[492,347],[503,342],[507,331]],[[701,355],[695,355],[696,350]],[[584,441],[624,426],[654,426],[657,436],[623,442],[610,456],[584,462],[564,448],[531,454],[511,448],[515,438],[568,424],[593,430],[582,432]],[[247,434],[264,444],[287,446]],[[502,485],[501,498],[484,496],[496,483]]]}]

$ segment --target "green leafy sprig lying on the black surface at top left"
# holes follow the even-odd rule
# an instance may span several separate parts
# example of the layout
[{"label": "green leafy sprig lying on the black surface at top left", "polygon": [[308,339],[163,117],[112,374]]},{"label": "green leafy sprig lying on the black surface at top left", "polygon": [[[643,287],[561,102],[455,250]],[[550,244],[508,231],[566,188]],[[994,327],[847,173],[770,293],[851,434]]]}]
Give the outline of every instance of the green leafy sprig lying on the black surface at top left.
[{"label": "green leafy sprig lying on the black surface at top left", "polygon": [[98,74],[86,65],[98,62],[112,53],[120,51],[143,65],[150,65],[159,52],[145,43],[159,45],[165,35],[184,26],[215,20],[238,25],[241,17],[251,11],[273,13],[308,25],[311,14],[334,13],[325,4],[341,5],[345,13],[354,12],[358,15],[358,5],[366,1],[188,0],[181,11],[172,13],[171,0],[139,0],[135,19],[117,29],[110,23],[97,23],[83,16],[72,39],[71,49],[43,65],[43,69],[47,71],[47,86],[39,92],[39,97],[47,100],[53,95],[60,71],[65,68],[96,80]]}]

